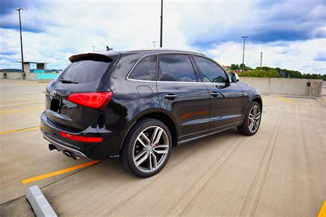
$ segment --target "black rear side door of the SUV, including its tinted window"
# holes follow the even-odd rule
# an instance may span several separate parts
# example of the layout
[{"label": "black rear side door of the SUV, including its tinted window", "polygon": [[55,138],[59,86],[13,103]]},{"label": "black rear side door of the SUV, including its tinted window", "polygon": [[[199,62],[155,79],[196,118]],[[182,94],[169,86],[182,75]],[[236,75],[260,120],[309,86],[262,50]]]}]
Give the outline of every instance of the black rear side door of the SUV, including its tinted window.
[{"label": "black rear side door of the SUV, including its tinted window", "polygon": [[160,54],[156,83],[162,110],[177,123],[178,143],[206,136],[210,96],[199,82],[190,56]]}]

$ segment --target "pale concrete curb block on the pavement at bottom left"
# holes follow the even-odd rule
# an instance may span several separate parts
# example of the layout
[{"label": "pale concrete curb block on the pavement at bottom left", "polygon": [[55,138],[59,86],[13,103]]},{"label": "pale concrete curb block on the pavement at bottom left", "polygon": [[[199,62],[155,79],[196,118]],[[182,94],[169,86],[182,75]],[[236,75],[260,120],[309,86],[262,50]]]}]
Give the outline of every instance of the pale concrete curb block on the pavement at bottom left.
[{"label": "pale concrete curb block on the pavement at bottom left", "polygon": [[26,198],[34,213],[37,217],[39,216],[56,216],[56,213],[52,209],[49,202],[41,192],[41,189],[37,185],[28,188],[28,193],[26,194]]}]

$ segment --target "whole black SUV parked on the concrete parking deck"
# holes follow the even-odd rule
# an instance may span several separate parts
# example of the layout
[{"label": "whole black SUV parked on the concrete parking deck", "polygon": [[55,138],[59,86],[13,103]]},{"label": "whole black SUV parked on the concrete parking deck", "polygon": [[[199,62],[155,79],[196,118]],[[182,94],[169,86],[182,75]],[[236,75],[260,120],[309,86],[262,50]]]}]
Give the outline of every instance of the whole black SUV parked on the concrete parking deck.
[{"label": "whole black SUV parked on the concrete parking deck", "polygon": [[173,145],[237,127],[259,128],[259,91],[204,54],[131,50],[71,56],[46,89],[41,132],[71,158],[120,156],[140,177],[157,174]]}]

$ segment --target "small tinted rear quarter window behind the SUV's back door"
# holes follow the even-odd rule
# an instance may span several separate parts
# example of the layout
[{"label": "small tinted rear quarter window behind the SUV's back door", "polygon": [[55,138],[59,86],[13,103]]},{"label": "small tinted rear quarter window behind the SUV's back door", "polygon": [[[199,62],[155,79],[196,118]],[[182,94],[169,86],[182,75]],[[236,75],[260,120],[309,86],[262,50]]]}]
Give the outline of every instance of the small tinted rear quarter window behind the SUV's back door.
[{"label": "small tinted rear quarter window behind the SUV's back door", "polygon": [[140,61],[131,72],[130,79],[155,81],[156,56],[149,56]]}]

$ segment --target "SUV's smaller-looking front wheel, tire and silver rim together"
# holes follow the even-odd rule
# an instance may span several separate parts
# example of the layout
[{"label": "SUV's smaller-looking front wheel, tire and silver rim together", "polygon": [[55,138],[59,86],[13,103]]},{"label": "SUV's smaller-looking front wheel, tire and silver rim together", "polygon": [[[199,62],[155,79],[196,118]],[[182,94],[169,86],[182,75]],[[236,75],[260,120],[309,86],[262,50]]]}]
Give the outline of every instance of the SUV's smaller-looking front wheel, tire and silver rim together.
[{"label": "SUV's smaller-looking front wheel, tire and silver rim together", "polygon": [[[257,109],[256,114],[254,114],[255,108]],[[246,115],[243,118],[243,123],[239,125],[237,129],[240,134],[246,136],[252,136],[257,133],[260,124],[261,124],[261,106],[257,102],[252,102],[250,103]]]}]

